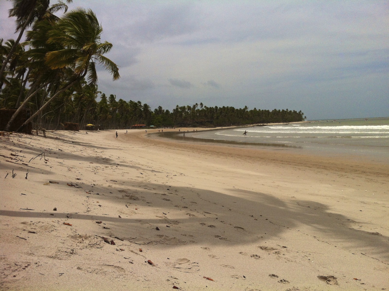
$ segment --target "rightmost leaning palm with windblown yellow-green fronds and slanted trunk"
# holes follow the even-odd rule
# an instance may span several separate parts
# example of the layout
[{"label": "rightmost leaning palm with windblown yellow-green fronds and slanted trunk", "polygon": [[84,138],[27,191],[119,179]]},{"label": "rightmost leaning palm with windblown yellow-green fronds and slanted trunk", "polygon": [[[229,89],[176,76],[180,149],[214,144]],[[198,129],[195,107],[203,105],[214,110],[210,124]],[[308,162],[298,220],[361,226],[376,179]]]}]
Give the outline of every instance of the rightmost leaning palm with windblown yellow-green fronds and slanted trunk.
[{"label": "rightmost leaning palm with windblown yellow-green fronds and slanted trunk", "polygon": [[58,43],[63,49],[46,53],[45,63],[51,69],[70,69],[61,88],[36,111],[19,130],[39,115],[62,92],[86,78],[88,84],[98,81],[96,63],[103,65],[113,76],[113,80],[120,78],[117,65],[103,56],[108,53],[112,44],[100,42],[102,26],[98,23],[95,13],[91,9],[78,8],[65,14],[58,24],[49,32],[48,43]]}]

